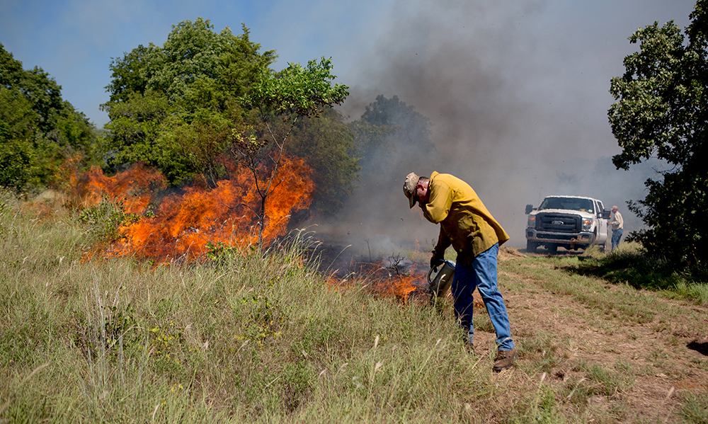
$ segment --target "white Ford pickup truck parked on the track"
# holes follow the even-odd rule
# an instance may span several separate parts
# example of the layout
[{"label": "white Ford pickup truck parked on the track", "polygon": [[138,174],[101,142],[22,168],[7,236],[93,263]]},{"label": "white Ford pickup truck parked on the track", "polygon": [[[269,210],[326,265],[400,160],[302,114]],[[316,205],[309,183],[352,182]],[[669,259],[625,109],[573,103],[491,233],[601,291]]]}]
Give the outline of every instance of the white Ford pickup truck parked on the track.
[{"label": "white Ford pickup truck parked on the track", "polygon": [[526,205],[526,251],[535,253],[543,246],[556,253],[559,246],[568,250],[583,250],[598,245],[605,250],[609,234],[607,220],[610,210],[592,197],[548,196],[537,208]]}]

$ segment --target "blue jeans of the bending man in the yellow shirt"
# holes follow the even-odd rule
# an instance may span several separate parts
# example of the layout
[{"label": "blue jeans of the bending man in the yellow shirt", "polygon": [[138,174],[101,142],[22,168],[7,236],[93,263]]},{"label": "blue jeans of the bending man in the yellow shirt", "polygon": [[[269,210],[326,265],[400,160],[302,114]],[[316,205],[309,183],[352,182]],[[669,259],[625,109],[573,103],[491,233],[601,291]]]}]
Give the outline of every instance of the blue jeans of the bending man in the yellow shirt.
[{"label": "blue jeans of the bending man in the yellow shirt", "polygon": [[469,330],[469,343],[472,343],[472,336],[474,336],[472,292],[476,287],[484,301],[494,331],[496,331],[498,350],[512,350],[514,340],[511,339],[509,316],[506,314],[504,299],[496,285],[496,256],[498,252],[499,244],[496,243],[489,250],[477,255],[472,261],[472,266],[457,263],[455,274],[452,276],[452,296],[455,299],[455,316],[462,328]]}]

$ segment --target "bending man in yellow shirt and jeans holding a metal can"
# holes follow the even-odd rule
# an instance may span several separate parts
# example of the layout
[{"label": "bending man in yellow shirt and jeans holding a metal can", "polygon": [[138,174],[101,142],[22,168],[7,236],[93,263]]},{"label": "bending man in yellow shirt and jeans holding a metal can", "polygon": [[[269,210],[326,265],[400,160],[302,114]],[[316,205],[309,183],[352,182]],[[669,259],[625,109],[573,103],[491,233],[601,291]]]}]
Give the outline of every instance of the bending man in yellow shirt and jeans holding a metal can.
[{"label": "bending man in yellow shirt and jeans holding a metal can", "polygon": [[426,178],[411,172],[406,176],[403,191],[411,208],[418,202],[426,219],[440,224],[430,268],[443,263],[445,249],[451,244],[457,251],[451,288],[455,316],[468,332],[468,348],[474,351],[472,292],[476,287],[496,332],[498,352],[493,369],[501,371],[511,367],[518,355],[511,338],[506,305],[497,287],[496,272],[499,246],[509,239],[508,234],[472,187],[455,176],[433,172]]}]

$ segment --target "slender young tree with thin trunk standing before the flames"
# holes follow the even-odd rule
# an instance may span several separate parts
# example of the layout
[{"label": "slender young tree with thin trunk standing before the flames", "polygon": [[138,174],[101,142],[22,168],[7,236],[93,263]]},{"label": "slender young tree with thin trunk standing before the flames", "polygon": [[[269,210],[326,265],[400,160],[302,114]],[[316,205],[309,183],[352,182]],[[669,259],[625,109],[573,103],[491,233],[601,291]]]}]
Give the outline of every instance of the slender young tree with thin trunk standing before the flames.
[{"label": "slender young tree with thin trunk standing before the flames", "polygon": [[241,104],[253,111],[253,125],[234,130],[234,152],[251,173],[261,197],[258,217],[258,246],[263,243],[265,203],[282,181],[278,180],[285,143],[299,118],[316,118],[324,108],[341,104],[349,95],[348,87],[332,84],[331,59],[307,67],[288,64],[279,72],[262,69]]}]

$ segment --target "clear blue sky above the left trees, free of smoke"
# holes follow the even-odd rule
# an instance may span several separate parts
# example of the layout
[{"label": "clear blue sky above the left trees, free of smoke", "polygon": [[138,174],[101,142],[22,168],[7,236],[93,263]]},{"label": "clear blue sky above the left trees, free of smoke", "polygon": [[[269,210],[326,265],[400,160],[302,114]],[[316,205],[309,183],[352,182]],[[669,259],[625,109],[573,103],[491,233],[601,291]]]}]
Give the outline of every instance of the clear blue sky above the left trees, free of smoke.
[{"label": "clear blue sky above the left trees, free of smoke", "polygon": [[[341,39],[362,38],[382,4],[374,1],[2,0],[0,42],[25,69],[41,67],[64,99],[101,127],[111,58],[138,45],[162,45],[171,26],[202,17],[215,31],[251,28],[251,40],[277,50],[276,67],[335,56]],[[337,40],[338,39],[338,40]],[[366,40],[362,40],[365,42]],[[340,52],[339,56],[344,53]]]}]

